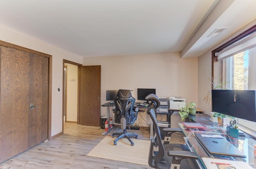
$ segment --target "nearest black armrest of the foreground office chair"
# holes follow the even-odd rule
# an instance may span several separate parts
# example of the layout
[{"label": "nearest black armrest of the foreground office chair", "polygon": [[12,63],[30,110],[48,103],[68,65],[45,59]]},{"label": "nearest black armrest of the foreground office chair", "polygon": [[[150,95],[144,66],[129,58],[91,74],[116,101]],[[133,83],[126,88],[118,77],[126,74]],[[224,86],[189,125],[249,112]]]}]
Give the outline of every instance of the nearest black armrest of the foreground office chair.
[{"label": "nearest black armrest of the foreground office chair", "polygon": [[196,153],[191,151],[168,151],[167,154],[170,157],[175,157],[175,158],[172,158],[172,164],[178,164],[178,165],[180,165],[181,160],[184,158],[198,159],[198,156],[196,155]]}]

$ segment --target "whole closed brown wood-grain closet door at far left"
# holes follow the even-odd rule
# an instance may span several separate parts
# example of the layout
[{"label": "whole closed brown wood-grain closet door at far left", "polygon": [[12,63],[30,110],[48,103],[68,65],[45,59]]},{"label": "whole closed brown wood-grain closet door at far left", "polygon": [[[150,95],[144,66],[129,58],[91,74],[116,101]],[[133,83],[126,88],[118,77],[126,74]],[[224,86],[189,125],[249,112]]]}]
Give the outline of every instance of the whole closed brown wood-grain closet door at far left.
[{"label": "whole closed brown wood-grain closet door at far left", "polygon": [[48,58],[1,47],[0,59],[2,162],[47,140]]}]

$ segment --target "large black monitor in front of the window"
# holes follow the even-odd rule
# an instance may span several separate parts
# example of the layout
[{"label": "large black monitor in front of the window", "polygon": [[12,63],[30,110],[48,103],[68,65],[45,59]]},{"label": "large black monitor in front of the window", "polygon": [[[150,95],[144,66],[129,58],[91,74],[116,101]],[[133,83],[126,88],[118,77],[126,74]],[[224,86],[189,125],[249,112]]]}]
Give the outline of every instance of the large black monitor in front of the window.
[{"label": "large black monitor in front of the window", "polygon": [[212,111],[256,122],[255,90],[212,90]]}]

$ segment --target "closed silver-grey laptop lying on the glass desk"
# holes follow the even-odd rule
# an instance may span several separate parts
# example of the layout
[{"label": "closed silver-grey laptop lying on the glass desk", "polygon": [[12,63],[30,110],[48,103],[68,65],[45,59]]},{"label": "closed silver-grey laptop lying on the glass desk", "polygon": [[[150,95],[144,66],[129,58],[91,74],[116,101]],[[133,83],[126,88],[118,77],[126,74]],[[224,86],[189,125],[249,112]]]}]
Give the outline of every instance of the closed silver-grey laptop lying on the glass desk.
[{"label": "closed silver-grey laptop lying on the glass desk", "polygon": [[203,137],[204,135],[210,136],[207,134],[195,133],[196,138],[202,143],[208,152],[211,154],[219,154],[233,157],[242,157],[246,158],[246,155],[232,145],[228,140],[223,137]]}]

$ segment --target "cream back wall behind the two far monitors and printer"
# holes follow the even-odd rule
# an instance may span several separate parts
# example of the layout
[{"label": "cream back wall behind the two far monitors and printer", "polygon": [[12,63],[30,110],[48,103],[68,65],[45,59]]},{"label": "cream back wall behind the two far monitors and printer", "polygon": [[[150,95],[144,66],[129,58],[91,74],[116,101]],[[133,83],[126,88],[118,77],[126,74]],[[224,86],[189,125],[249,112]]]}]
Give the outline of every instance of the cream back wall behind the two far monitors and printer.
[{"label": "cream back wall behind the two far monitors and printer", "polygon": [[[107,102],[106,90],[130,89],[137,98],[137,88],[156,88],[159,97],[182,96],[187,102],[197,103],[197,60],[181,59],[180,53],[157,53],[86,57],[83,65],[101,65],[101,104]],[[101,108],[103,115],[106,107]],[[149,120],[148,116],[145,118]]]}]

